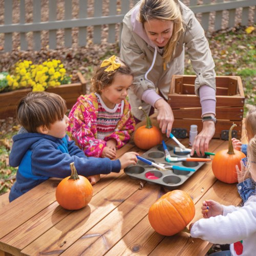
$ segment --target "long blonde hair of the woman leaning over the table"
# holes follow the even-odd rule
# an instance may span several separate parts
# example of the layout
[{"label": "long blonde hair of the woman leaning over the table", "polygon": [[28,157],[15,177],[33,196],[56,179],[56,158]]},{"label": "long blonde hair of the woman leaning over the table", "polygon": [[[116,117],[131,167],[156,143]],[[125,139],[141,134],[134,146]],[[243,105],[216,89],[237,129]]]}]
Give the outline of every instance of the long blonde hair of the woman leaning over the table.
[{"label": "long blonde hair of the woman leaning over the table", "polygon": [[170,20],[174,23],[173,34],[164,47],[163,59],[168,62],[176,49],[177,42],[184,31],[182,15],[176,0],[142,0],[139,11],[139,21],[143,24],[148,20]]}]

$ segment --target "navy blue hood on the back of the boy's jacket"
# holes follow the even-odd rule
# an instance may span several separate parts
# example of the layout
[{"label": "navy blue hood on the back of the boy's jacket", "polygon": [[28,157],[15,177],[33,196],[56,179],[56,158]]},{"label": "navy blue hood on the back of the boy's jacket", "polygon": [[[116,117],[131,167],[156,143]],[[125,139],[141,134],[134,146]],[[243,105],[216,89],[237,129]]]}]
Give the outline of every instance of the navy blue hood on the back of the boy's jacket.
[{"label": "navy blue hood on the back of the boy's jacket", "polygon": [[17,167],[31,146],[35,145],[36,142],[39,142],[40,139],[45,138],[51,141],[60,141],[58,138],[39,133],[21,133],[14,135],[12,138],[13,145],[9,156],[9,164],[12,167]]}]

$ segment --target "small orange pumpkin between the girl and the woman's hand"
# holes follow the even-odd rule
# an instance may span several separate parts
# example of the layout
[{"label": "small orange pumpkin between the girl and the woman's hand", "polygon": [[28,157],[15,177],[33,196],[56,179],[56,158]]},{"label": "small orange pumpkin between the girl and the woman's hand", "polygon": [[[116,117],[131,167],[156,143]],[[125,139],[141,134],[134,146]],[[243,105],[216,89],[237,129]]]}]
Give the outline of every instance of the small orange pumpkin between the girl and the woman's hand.
[{"label": "small orange pumpkin between the girl and the woman's hand", "polygon": [[153,146],[156,146],[162,142],[162,133],[156,126],[152,125],[150,117],[148,117],[141,106],[139,109],[142,110],[146,116],[146,125],[140,126],[135,131],[134,143],[142,150],[149,150]]}]

